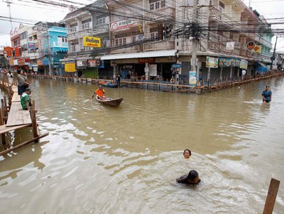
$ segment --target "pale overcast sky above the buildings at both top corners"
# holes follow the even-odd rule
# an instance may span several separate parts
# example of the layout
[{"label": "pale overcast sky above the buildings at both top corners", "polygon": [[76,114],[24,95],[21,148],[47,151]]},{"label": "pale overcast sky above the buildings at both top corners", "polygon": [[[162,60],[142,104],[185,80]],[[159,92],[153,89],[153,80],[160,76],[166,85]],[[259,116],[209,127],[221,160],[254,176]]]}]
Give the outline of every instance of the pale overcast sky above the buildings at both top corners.
[{"label": "pale overcast sky above the buildings at both top corners", "polygon": [[[7,1],[7,0],[4,0]],[[59,6],[43,6],[40,3],[32,3],[32,0],[10,0],[11,4],[11,14],[12,18],[18,18],[19,22],[21,19],[25,19],[23,22],[31,23],[38,21],[48,21],[48,22],[58,22],[62,20],[67,13],[69,13],[69,8],[59,7]],[[55,1],[55,0],[53,0]],[[90,4],[92,0],[80,0],[74,2],[80,2],[80,4]],[[256,9],[265,18],[284,18],[284,0],[243,0],[245,4],[249,4],[252,8]],[[34,2],[34,1],[33,1]],[[59,2],[59,1],[55,1]],[[64,2],[64,1],[62,1]],[[79,5],[76,5],[79,6]],[[0,16],[8,17],[8,7],[3,1],[0,2]],[[0,18],[2,19],[2,18]],[[284,19],[283,19],[284,20]],[[281,21],[281,20],[269,20],[271,22]],[[18,27],[20,23],[13,22],[13,28]],[[25,24],[27,25],[27,24]],[[273,28],[284,28],[284,25],[273,25]],[[10,36],[11,23],[7,21],[0,20],[0,46],[10,46]],[[273,47],[276,37],[273,38]],[[276,46],[277,51],[284,51],[284,37],[278,39]]]}]

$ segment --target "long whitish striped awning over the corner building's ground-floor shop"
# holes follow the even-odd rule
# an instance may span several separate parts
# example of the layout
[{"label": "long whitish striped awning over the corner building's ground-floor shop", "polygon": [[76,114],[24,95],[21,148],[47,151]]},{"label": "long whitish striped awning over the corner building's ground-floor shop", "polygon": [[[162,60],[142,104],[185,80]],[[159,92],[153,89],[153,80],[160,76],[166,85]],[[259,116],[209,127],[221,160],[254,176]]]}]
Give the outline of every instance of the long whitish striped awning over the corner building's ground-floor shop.
[{"label": "long whitish striped awning over the corner building's ground-floor shop", "polygon": [[146,51],[141,53],[119,53],[111,55],[103,55],[101,60],[123,60],[123,59],[135,59],[135,58],[161,58],[168,56],[175,56],[176,50],[170,51]]}]

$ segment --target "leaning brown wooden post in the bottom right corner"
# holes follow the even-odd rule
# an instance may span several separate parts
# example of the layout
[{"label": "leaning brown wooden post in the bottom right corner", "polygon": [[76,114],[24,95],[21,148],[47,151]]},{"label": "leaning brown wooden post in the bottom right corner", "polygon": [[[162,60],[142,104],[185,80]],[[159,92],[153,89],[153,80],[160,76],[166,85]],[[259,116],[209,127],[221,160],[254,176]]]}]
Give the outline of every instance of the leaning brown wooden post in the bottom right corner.
[{"label": "leaning brown wooden post in the bottom right corner", "polygon": [[269,191],[266,196],[263,214],[272,214],[279,185],[280,185],[279,180],[275,180],[271,178],[271,182],[269,185]]}]

